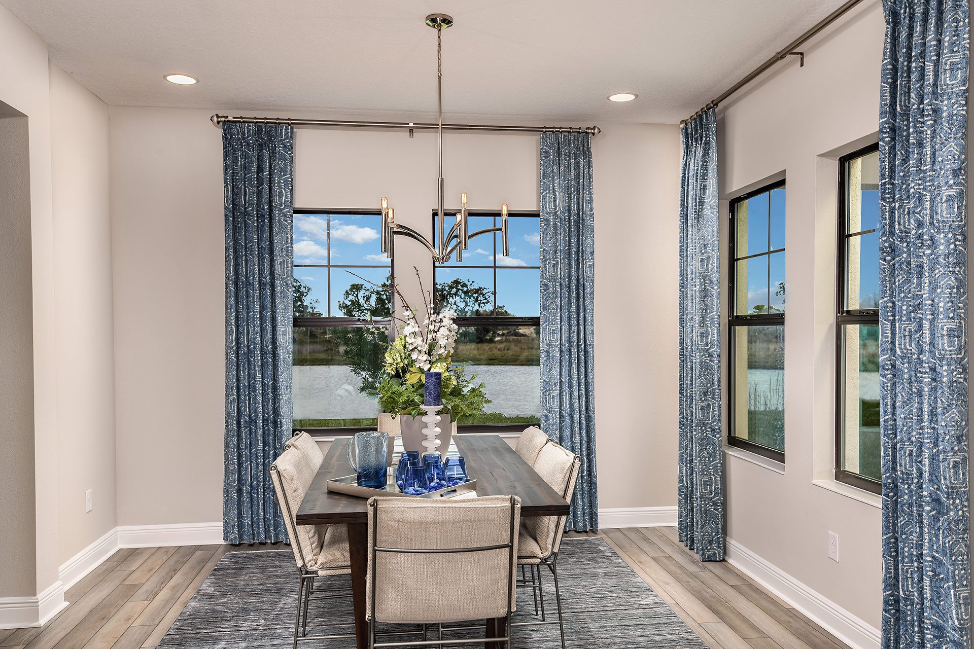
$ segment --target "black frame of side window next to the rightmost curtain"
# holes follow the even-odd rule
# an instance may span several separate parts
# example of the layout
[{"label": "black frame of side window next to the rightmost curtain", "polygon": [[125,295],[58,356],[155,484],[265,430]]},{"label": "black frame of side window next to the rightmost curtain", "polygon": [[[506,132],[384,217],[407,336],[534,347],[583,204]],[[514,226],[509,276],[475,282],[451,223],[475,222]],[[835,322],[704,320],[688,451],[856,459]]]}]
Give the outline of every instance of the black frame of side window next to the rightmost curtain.
[{"label": "black frame of side window next to the rightmost curtain", "polygon": [[834,460],[834,479],[837,483],[843,483],[849,487],[856,487],[871,493],[882,493],[882,483],[880,481],[867,478],[851,471],[845,471],[843,466],[843,443],[844,443],[844,423],[845,423],[845,345],[843,332],[845,325],[880,325],[879,308],[846,308],[846,240],[850,236],[860,234],[870,234],[878,232],[878,229],[863,230],[856,233],[847,233],[846,220],[848,209],[848,179],[845,169],[848,162],[867,156],[871,153],[879,152],[880,143],[876,142],[868,146],[857,149],[839,159],[839,209],[838,224],[836,229],[836,436]]}]

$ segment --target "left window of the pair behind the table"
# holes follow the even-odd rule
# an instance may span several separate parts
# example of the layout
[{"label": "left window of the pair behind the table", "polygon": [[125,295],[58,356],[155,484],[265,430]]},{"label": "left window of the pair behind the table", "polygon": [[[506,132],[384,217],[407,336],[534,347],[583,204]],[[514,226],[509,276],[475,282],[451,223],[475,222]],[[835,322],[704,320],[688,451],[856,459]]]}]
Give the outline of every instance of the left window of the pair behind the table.
[{"label": "left window of the pair behind the table", "polygon": [[358,388],[383,362],[369,319],[388,327],[392,312],[381,227],[377,211],[294,211],[294,428],[377,423],[378,400]]}]

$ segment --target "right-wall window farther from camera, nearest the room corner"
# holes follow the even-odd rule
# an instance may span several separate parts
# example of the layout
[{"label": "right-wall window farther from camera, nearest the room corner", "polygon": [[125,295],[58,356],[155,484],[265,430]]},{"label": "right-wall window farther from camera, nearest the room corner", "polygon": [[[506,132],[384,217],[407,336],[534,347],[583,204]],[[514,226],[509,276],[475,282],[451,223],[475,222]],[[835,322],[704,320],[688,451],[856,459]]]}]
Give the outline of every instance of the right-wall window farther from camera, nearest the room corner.
[{"label": "right-wall window farther from camera, nearest the room corner", "polygon": [[785,459],[785,185],[731,201],[728,443]]}]

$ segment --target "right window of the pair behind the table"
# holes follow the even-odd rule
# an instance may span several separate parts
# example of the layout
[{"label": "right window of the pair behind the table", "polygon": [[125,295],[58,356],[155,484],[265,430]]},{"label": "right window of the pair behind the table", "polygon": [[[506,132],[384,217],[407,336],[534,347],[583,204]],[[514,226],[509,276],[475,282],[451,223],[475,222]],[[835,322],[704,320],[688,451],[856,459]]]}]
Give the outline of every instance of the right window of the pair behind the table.
[{"label": "right window of the pair behind the table", "polygon": [[[471,212],[468,219],[471,234],[501,227],[500,214]],[[437,221],[434,215],[438,240]],[[493,402],[484,415],[460,423],[491,430],[505,425],[523,430],[538,423],[542,412],[538,213],[511,212],[507,234],[506,257],[501,233],[481,234],[470,239],[461,262],[454,256],[433,266],[437,302],[458,315],[453,362],[465,366],[468,376],[477,375]]]}]

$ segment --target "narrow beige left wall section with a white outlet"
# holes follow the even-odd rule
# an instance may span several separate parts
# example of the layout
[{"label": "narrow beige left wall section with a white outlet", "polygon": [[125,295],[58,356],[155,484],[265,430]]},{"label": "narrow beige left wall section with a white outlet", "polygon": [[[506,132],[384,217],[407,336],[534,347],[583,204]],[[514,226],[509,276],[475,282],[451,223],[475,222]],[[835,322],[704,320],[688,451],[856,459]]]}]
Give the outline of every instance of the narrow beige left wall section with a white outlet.
[{"label": "narrow beige left wall section with a white outlet", "polygon": [[[108,106],[50,66],[58,563],[115,527]],[[85,513],[85,491],[93,509]]]}]

